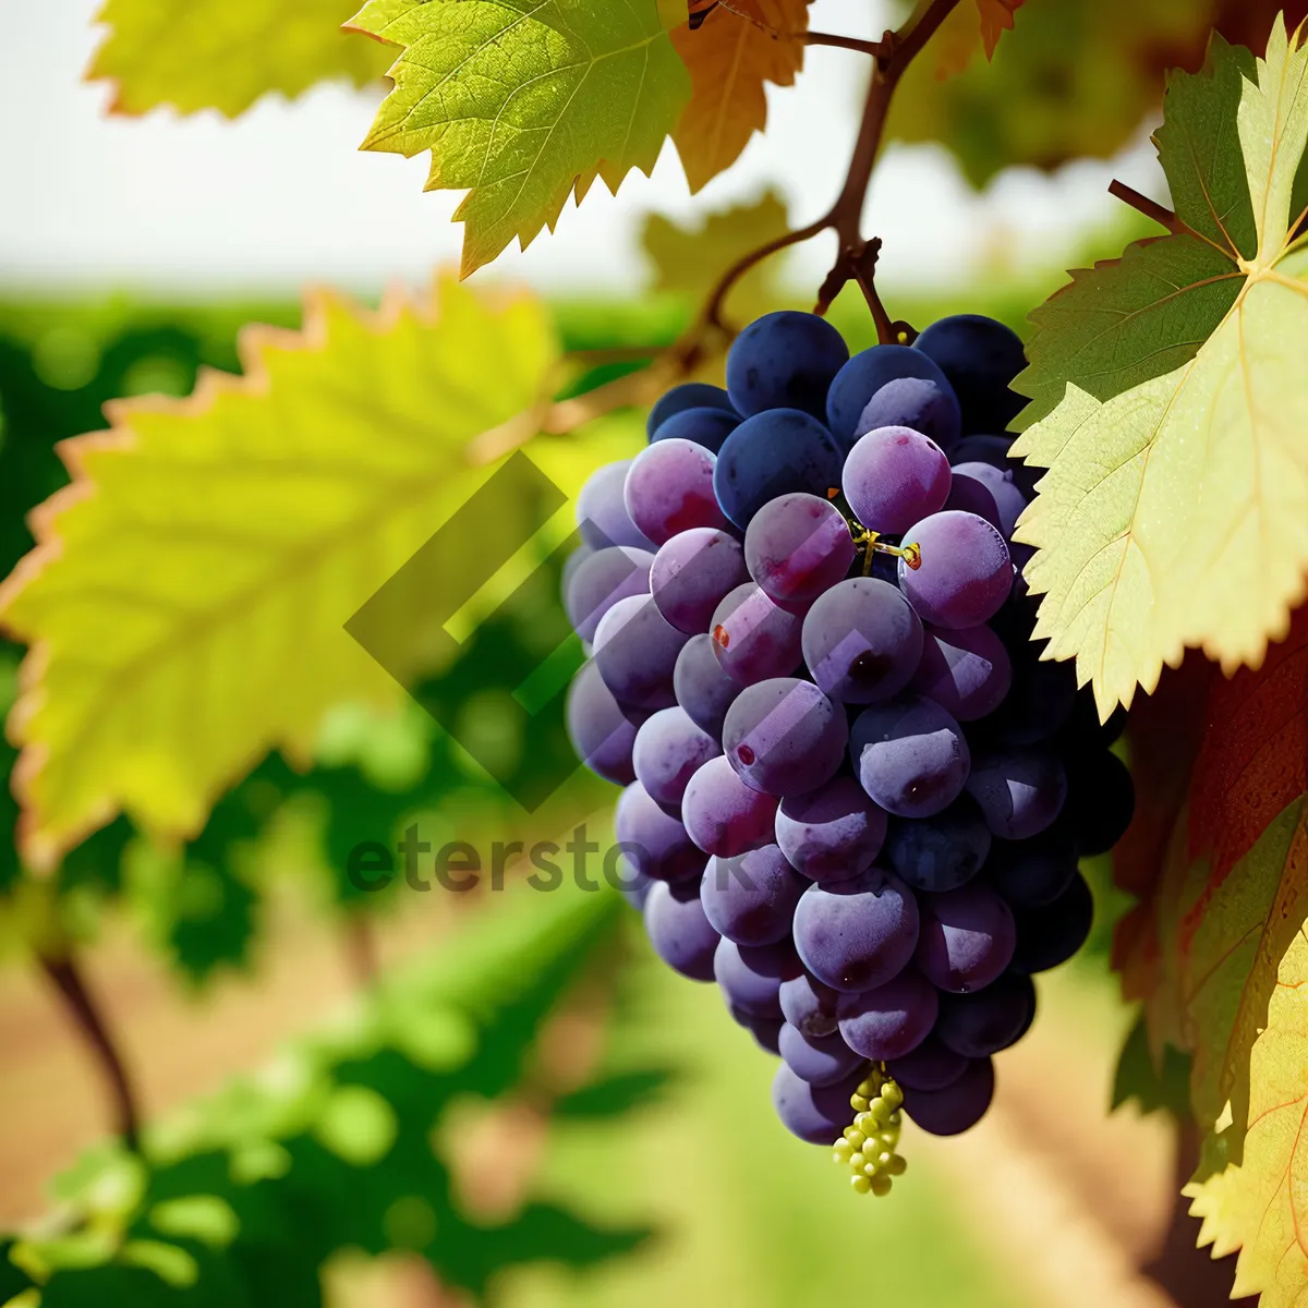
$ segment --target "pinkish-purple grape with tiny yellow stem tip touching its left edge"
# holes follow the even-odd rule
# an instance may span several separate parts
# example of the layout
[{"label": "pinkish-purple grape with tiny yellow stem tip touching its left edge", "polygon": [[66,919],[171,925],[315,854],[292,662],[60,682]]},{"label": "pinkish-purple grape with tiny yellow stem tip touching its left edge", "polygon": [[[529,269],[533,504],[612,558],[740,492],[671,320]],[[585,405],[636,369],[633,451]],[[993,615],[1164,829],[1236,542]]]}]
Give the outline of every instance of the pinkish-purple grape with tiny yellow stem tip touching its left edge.
[{"label": "pinkish-purple grape with tiny yellow stem tip touching its left edge", "polygon": [[980,627],[1012,589],[1012,562],[1003,536],[974,513],[931,514],[904,532],[921,553],[917,568],[900,560],[900,587],[922,621],[934,627]]}]

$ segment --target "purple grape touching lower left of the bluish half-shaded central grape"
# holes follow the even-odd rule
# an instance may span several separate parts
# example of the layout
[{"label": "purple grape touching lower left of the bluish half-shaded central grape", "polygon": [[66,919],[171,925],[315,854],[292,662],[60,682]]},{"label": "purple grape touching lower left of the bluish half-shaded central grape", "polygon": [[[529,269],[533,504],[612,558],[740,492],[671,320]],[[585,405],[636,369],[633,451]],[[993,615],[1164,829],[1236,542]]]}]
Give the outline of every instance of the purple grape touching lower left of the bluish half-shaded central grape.
[{"label": "purple grape touching lower left of the bluish half-shaded central grape", "polygon": [[791,867],[814,882],[842,882],[872,866],[886,840],[886,814],[853,777],[781,802],[777,844]]}]

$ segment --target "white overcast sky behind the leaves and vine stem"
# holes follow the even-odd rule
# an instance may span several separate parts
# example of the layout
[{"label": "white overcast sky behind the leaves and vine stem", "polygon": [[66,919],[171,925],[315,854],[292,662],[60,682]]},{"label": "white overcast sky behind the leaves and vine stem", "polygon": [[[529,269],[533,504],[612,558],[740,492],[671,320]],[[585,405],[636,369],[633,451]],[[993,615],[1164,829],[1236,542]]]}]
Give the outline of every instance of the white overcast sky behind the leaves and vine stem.
[{"label": "white overcast sky behind the leaves and vine stem", "polygon": [[[98,4],[0,0],[13,10],[0,42],[0,293],[208,297],[305,283],[373,292],[456,263],[459,195],[422,191],[425,157],[357,150],[378,93],[328,85],[294,103],[266,97],[235,123],[169,110],[111,118],[107,88],[82,81],[101,39]],[[811,13],[815,27],[869,37],[887,18],[876,0],[815,0]],[[793,222],[819,216],[844,177],[865,72],[858,54],[810,48],[794,88],[769,88],[766,136],[697,196],[668,144],[653,177],[632,173],[616,198],[596,186],[555,235],[479,276],[555,294],[636,293],[650,211],[695,221],[770,184]],[[1118,161],[1054,177],[1011,170],[977,194],[944,150],[892,148],[865,215],[886,242],[880,276],[948,285],[997,249],[1019,268],[1048,266],[1112,213],[1114,175],[1158,190],[1151,158],[1142,140]],[[790,273],[820,280],[831,252],[812,242],[790,256]]]}]

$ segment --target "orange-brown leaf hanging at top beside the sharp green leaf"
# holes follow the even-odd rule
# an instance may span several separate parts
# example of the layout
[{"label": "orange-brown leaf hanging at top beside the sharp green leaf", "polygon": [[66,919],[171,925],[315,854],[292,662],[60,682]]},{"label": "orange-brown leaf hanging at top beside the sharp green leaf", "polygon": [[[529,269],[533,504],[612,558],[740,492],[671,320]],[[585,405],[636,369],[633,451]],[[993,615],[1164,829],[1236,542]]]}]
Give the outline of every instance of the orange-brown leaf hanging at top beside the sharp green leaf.
[{"label": "orange-brown leaf hanging at top beside the sharp green leaf", "polygon": [[764,84],[794,82],[804,47],[791,34],[807,30],[808,0],[734,0],[731,9],[709,13],[698,29],[683,25],[672,31],[691,72],[691,102],[672,140],[692,194],[729,169],[749,137],[764,129]]}]

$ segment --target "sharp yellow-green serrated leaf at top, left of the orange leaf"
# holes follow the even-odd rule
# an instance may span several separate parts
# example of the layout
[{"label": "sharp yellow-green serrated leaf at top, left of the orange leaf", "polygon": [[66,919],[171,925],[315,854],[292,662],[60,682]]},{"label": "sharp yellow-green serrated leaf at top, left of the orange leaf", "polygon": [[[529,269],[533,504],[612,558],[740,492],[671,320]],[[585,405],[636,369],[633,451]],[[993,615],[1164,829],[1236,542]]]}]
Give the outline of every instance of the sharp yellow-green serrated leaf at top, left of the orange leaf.
[{"label": "sharp yellow-green serrated leaf at top, left of the orange leaf", "polygon": [[428,190],[467,190],[464,276],[596,175],[651,171],[689,98],[655,0],[369,0],[351,26],[404,47],[364,149],[430,150]]}]

